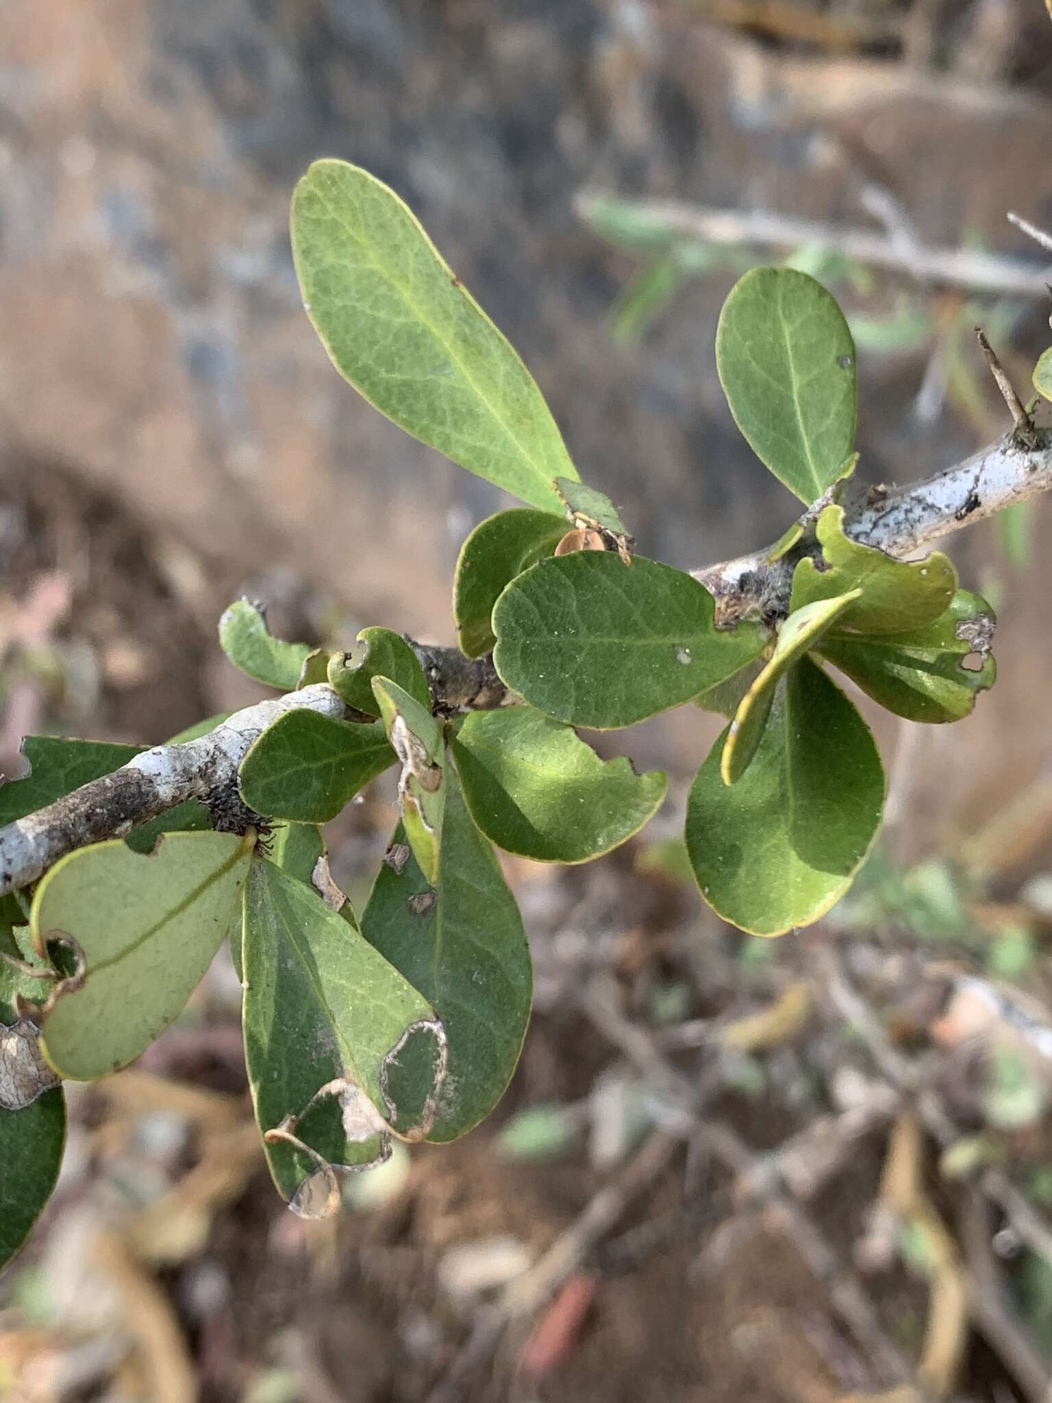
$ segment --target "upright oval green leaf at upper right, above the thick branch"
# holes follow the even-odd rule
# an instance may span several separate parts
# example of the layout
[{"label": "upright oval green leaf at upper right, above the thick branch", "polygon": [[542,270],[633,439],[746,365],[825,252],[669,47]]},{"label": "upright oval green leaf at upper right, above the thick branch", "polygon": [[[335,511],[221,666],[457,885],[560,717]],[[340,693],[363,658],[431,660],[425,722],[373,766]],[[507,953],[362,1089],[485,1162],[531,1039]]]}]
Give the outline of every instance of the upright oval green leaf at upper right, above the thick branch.
[{"label": "upright oval green leaf at upper right, above the thick branch", "polygon": [[753,452],[804,502],[842,476],[858,410],[854,342],[825,288],[790,268],[753,268],[715,333],[727,403]]}]

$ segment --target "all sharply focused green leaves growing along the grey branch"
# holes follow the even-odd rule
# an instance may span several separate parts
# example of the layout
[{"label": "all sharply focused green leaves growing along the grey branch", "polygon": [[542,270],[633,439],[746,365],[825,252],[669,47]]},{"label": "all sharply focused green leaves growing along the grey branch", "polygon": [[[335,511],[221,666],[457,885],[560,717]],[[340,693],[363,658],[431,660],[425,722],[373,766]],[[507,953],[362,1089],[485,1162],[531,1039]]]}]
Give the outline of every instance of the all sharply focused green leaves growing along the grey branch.
[{"label": "all sharply focused green leaves growing along the grey branch", "polygon": [[[397,195],[320,161],[296,189],[292,243],[337,369],[403,429],[526,504],[471,532],[453,579],[460,650],[492,658],[506,703],[450,714],[419,650],[391,629],[330,652],[272,637],[250,600],[231,605],[220,644],[238,668],[282,692],[323,689],[334,706],[282,711],[226,810],[215,796],[181,805],[0,899],[0,1035],[4,1048],[35,1038],[53,1072],[27,1104],[0,1101],[0,1264],[55,1183],[55,1076],[105,1076],[139,1056],[227,937],[259,1131],[297,1212],[331,1212],[341,1180],[393,1139],[452,1141],[488,1115],[532,998],[495,849],[589,861],[666,796],[662,773],[602,759],[578,728],[680,706],[725,714],[690,787],[686,847],[710,905],[773,936],[843,895],[881,822],[881,759],[830,668],[924,723],[966,716],[994,680],[993,613],[950,560],[903,563],[847,529],[856,355],[814,279],[755,269],[720,318],[731,412],[805,508],[764,558],[788,581],[784,599],[731,622],[693,575],[634,553],[617,508],[581,483],[522,361]],[[31,738],[32,773],[0,790],[0,822],[137,751]],[[323,825],[389,769],[398,822],[359,920],[328,873]]]}]

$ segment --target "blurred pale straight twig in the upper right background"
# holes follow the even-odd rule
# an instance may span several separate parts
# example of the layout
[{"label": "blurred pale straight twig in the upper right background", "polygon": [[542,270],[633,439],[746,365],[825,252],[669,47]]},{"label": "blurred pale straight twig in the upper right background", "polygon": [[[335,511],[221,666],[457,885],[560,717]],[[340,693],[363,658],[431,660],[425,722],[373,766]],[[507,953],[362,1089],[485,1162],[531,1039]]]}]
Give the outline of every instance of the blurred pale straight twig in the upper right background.
[{"label": "blurred pale straight twig in the upper right background", "polygon": [[598,192],[582,192],[575,203],[581,217],[598,229],[603,227],[605,206],[616,205],[631,220],[634,230],[665,234],[669,243],[687,239],[706,244],[753,244],[764,248],[808,247],[940,286],[1021,297],[1041,296],[1041,265],[1006,254],[927,247],[867,229],[822,224],[763,209],[710,209],[676,201],[626,201]]}]

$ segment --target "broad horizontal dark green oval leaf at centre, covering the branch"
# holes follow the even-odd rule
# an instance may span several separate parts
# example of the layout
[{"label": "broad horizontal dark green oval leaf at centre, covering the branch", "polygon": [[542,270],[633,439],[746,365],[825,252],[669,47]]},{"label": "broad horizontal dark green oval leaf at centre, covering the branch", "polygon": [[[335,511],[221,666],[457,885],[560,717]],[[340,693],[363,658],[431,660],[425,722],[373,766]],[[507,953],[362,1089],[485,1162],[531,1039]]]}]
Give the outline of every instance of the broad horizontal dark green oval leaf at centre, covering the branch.
[{"label": "broad horizontal dark green oval leaf at centre, covering the branch", "polygon": [[558,721],[606,731],[682,706],[729,678],[769,633],[717,630],[713,596],[690,575],[637,556],[541,560],[494,609],[502,682]]}]

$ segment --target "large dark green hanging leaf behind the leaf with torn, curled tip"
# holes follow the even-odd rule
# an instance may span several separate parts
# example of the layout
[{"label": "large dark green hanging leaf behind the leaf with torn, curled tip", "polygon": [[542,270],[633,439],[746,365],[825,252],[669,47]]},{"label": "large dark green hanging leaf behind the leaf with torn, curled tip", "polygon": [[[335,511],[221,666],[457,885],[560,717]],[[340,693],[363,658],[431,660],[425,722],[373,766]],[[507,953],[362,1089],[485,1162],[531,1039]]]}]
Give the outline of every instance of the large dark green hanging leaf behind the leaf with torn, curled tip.
[{"label": "large dark green hanging leaf behind the leaf with torn, curled tip", "polygon": [[[532,1000],[530,954],[515,898],[471,822],[452,763],[446,773],[433,888],[403,847],[405,861],[380,868],[362,918],[366,940],[419,989],[445,1026],[449,1080],[428,1135],[442,1142],[464,1135],[501,1100]],[[401,842],[398,831],[394,845]]]}]

